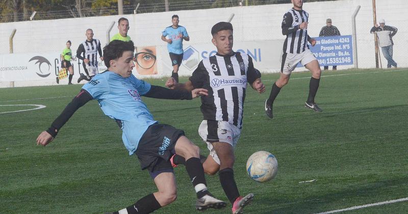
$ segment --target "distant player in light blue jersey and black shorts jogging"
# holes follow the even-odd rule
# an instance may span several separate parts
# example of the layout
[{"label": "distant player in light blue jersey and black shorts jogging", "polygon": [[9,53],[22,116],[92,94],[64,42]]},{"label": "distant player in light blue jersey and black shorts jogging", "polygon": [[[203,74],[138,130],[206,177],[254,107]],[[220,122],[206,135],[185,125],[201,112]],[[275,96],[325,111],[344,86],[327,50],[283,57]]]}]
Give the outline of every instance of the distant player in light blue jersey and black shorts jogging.
[{"label": "distant player in light blue jersey and black shorts jogging", "polygon": [[171,17],[171,26],[168,26],[162,32],[162,40],[167,42],[167,49],[169,50],[171,65],[173,71],[171,77],[174,77],[175,81],[179,82],[179,67],[183,61],[183,40],[190,41],[190,37],[187,34],[186,28],[179,25],[179,16],[173,15]]}]

